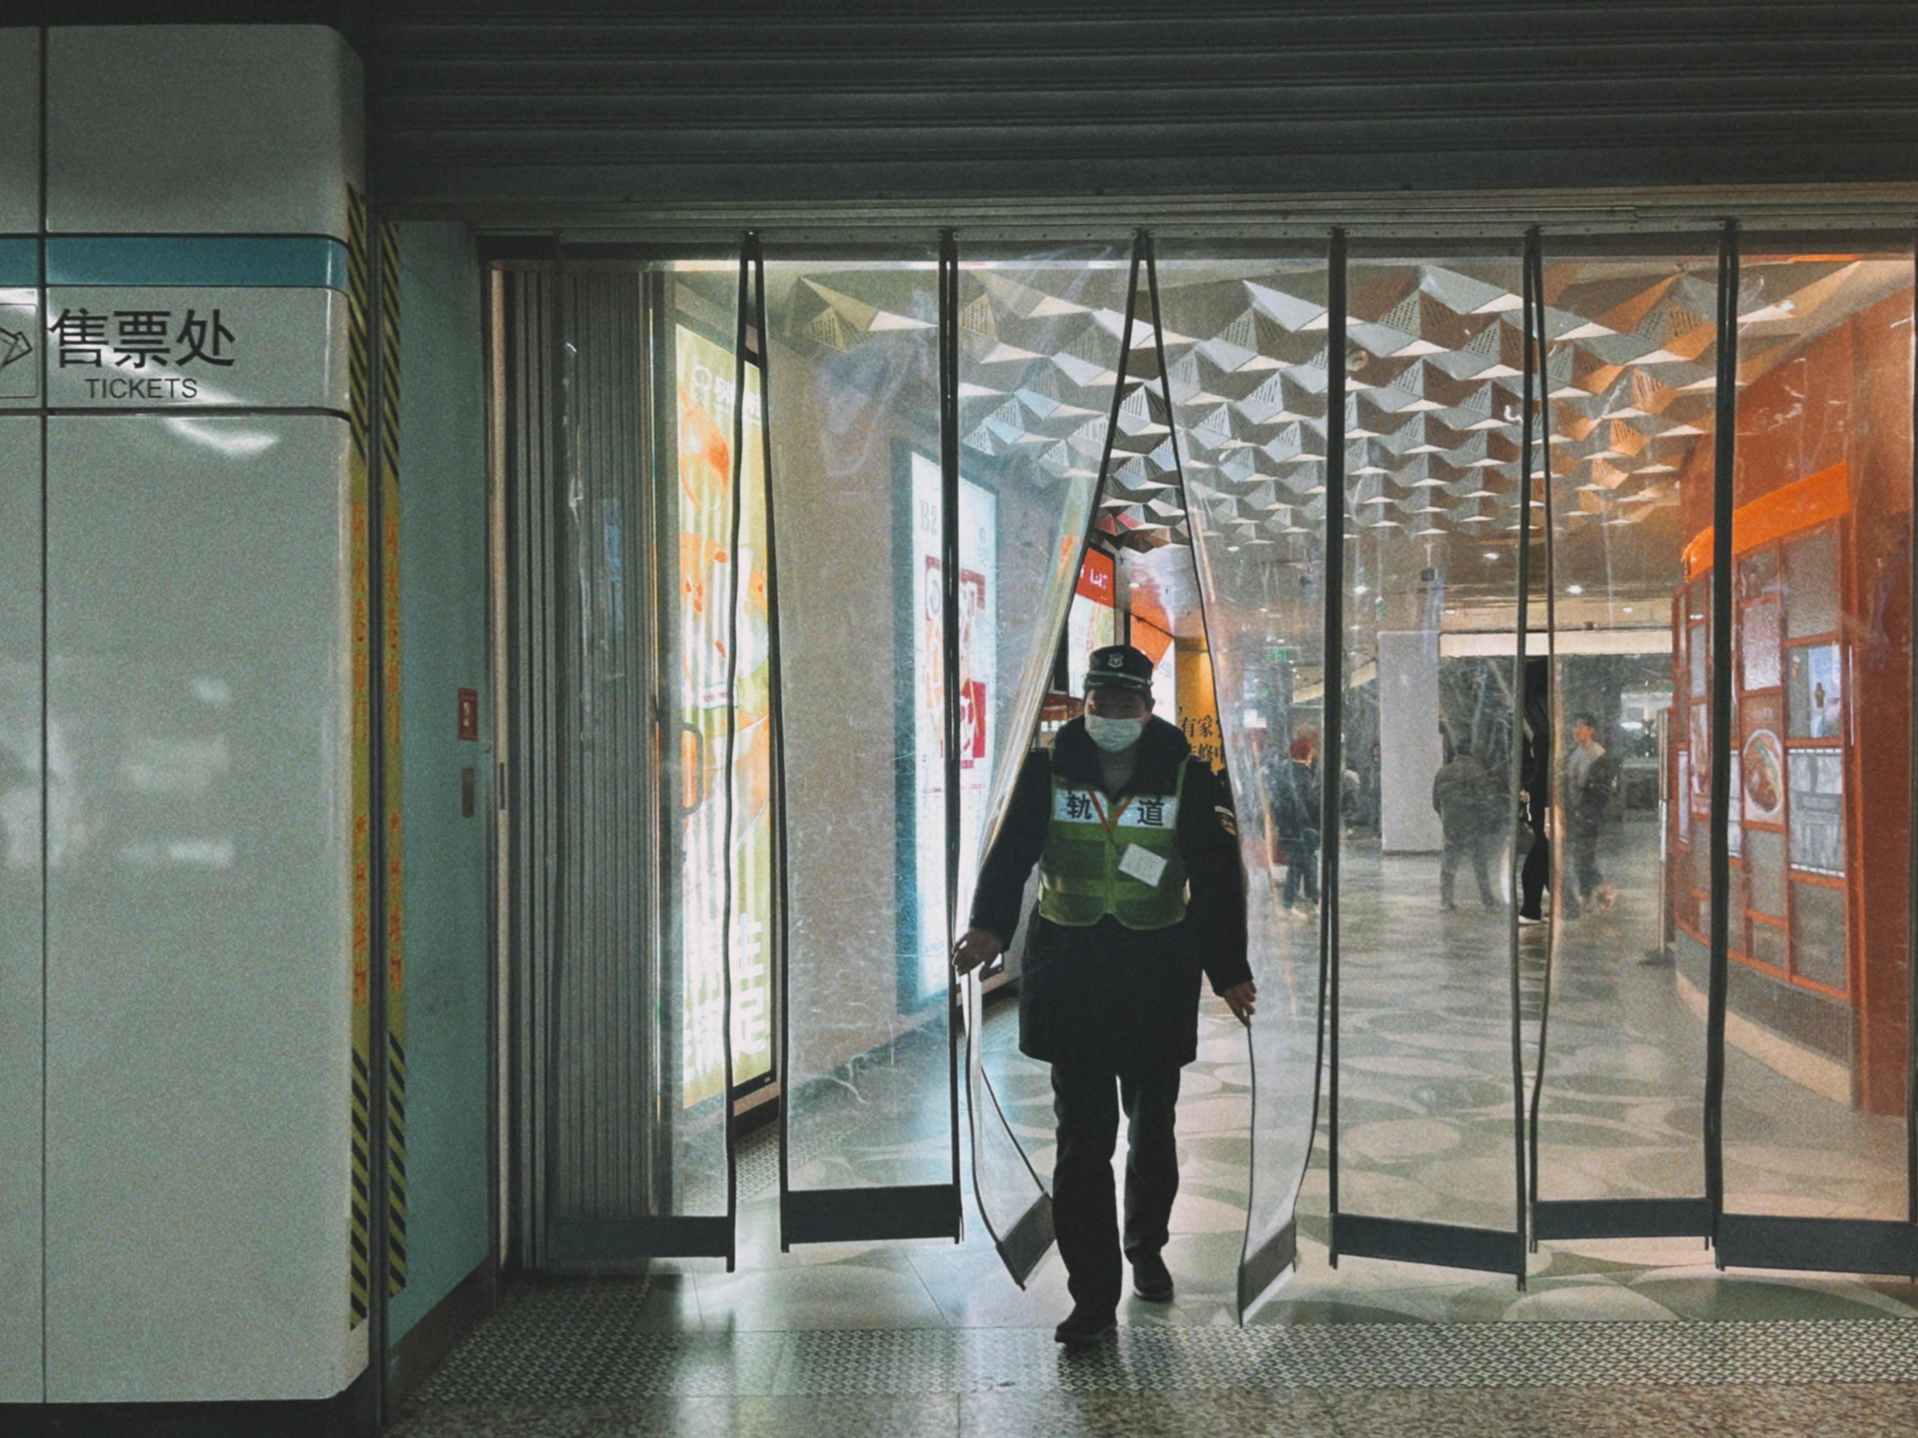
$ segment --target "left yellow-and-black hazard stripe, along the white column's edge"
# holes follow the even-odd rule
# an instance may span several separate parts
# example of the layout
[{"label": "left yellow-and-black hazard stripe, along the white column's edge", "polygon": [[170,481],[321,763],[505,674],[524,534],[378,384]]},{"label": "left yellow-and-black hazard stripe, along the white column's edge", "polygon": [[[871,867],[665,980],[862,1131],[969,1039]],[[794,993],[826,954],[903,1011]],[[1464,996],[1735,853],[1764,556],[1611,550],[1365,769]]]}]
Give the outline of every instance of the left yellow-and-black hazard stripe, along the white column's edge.
[{"label": "left yellow-and-black hazard stripe, along the white column's edge", "polygon": [[366,196],[347,192],[347,456],[349,669],[353,738],[353,1216],[347,1302],[357,1329],[370,1306],[372,1265],[372,573],[368,548]]}]

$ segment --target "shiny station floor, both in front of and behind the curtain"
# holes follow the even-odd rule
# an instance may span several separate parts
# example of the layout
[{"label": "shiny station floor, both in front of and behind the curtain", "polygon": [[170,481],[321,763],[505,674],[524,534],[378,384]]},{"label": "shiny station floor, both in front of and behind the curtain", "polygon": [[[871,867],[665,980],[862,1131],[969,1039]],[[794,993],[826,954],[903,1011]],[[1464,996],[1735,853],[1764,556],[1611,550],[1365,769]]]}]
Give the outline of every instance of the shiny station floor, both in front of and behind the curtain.
[{"label": "shiny station floor, both in front of and behind the curtain", "polygon": [[[1632,853],[1634,838],[1623,834],[1611,851],[1617,909],[1559,926],[1544,1196],[1701,1191],[1699,1024],[1674,993],[1674,970],[1642,963],[1655,949],[1655,895],[1634,874],[1655,869]],[[1348,953],[1343,1202],[1458,1221],[1463,1206],[1483,1200],[1481,1212],[1496,1212],[1502,1200],[1509,1223],[1508,928],[1473,907],[1442,913],[1435,857],[1381,861],[1354,846],[1346,878],[1348,922],[1381,941],[1371,972]],[[1283,941],[1312,941],[1310,924],[1291,924]],[[1527,1081],[1544,941],[1544,928],[1523,932]],[[1918,1421],[1918,1288],[1908,1281],[1720,1273],[1696,1239],[1554,1242],[1532,1256],[1523,1292],[1509,1277],[1458,1269],[1346,1260],[1333,1271],[1323,1133],[1300,1200],[1298,1271],[1254,1327],[1239,1329],[1251,1066],[1216,1001],[1203,1024],[1180,1104],[1181,1191],[1166,1252],[1178,1296],[1130,1300],[1118,1346],[1091,1357],[1057,1350],[1051,1325],[1068,1308],[1057,1254],[1024,1292],[1015,1288],[971,1194],[959,1244],[781,1254],[777,1145],[765,1129],[742,1152],[735,1273],[681,1262],[656,1264],[648,1279],[522,1285],[426,1384],[399,1432],[857,1428],[865,1438],[1346,1432],[1368,1423],[1433,1434],[1648,1425],[1870,1434]],[[990,1010],[986,1053],[1009,1122],[1049,1173],[1047,1074],[1017,1053],[1011,1005]],[[884,1083],[928,1095],[926,1127],[907,1147],[923,1147],[921,1158],[942,1152],[944,1045],[901,1049]],[[1872,1129],[1841,1116],[1807,1122],[1789,1087],[1732,1056],[1743,1147],[1728,1175],[1791,1202],[1837,1185],[1845,1212],[1860,1202],[1859,1185],[1895,1183],[1903,1148],[1887,1179]],[[821,1099],[817,1143],[794,1156],[802,1181],[898,1168],[901,1135],[863,1131],[859,1108],[855,1087],[836,1106]],[[1885,1194],[1872,1187],[1870,1200]],[[1577,1384],[1605,1392],[1580,1398]]]}]

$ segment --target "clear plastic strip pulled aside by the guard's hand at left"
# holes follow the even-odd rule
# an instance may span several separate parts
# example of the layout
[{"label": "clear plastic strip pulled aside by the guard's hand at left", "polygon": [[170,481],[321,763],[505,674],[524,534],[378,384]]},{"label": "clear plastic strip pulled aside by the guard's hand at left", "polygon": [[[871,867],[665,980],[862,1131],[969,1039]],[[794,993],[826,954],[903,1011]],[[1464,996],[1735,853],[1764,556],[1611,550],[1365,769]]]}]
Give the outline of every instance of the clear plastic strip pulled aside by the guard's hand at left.
[{"label": "clear plastic strip pulled aside by the guard's hand at left", "polygon": [[[1124,249],[1093,245],[959,257],[953,274],[965,905],[1053,688],[1095,512],[1128,270]],[[1011,936],[1015,966],[1022,939]],[[1024,1285],[1053,1237],[1040,1177],[1053,1124],[1047,1066],[1018,1053],[1011,1009],[988,1020],[976,976],[965,980],[965,1014],[972,1191]]]}]

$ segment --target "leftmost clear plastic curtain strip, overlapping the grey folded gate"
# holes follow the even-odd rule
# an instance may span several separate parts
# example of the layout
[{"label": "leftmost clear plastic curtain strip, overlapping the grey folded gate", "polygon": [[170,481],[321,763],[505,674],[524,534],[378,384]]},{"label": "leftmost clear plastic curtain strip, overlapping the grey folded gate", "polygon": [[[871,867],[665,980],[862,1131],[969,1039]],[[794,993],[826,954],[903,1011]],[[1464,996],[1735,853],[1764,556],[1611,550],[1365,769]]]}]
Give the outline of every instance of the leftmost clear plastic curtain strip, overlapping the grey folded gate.
[{"label": "leftmost clear plastic curtain strip, overlapping the grey folded gate", "polygon": [[[560,276],[570,602],[562,686],[564,907],[554,978],[547,1256],[629,1264],[733,1254],[737,1078],[727,915],[738,880],[740,650],[733,564],[758,416],[740,393],[737,267]],[[650,391],[643,372],[662,366]],[[667,372],[673,385],[666,383]],[[646,491],[635,405],[671,395],[669,479]],[[677,531],[677,546],[656,545]],[[660,571],[635,566],[660,556]],[[648,581],[673,596],[650,621]],[[704,602],[700,602],[704,596]],[[654,652],[654,646],[658,650]],[[652,692],[648,692],[648,688]],[[656,715],[658,786],[639,752]],[[671,819],[650,849],[654,805]],[[658,878],[656,878],[658,876]],[[662,903],[648,903],[650,884]],[[669,915],[652,926],[650,915]]]}]

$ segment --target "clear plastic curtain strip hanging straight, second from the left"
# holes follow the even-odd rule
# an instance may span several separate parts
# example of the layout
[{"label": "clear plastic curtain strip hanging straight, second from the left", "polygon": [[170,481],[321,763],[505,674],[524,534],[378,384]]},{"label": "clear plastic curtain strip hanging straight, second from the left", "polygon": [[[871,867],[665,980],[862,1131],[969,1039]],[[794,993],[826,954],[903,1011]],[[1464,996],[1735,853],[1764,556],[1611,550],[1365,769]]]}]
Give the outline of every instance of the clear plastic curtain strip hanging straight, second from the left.
[{"label": "clear plastic curtain strip hanging straight, second from the left", "polygon": [[961,1227],[940,274],[930,247],[765,265],[783,1244]]}]

